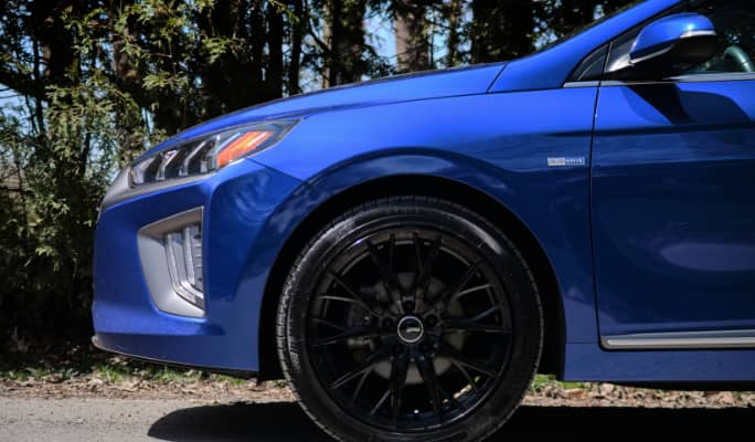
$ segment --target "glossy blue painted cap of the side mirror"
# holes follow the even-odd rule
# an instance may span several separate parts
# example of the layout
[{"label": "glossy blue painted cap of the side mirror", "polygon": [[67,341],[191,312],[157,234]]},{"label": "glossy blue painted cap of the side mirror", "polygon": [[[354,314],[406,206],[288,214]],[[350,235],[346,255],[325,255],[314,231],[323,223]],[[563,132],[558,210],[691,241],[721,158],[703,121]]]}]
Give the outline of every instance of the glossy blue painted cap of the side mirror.
[{"label": "glossy blue painted cap of the side mirror", "polygon": [[635,62],[668,51],[680,39],[711,32],[715,32],[715,27],[704,15],[684,12],[664,17],[642,28],[631,45],[629,60]]}]

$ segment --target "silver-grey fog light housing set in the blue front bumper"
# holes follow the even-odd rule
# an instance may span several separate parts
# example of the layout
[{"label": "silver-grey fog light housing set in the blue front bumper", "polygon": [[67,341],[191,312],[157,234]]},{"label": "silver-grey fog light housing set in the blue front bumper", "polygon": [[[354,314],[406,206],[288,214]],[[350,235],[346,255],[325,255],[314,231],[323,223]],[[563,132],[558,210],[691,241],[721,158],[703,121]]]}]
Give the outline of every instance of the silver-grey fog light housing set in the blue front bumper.
[{"label": "silver-grey fog light housing set in the blue front bumper", "polygon": [[143,227],[139,257],[152,302],[173,315],[203,317],[202,208]]}]

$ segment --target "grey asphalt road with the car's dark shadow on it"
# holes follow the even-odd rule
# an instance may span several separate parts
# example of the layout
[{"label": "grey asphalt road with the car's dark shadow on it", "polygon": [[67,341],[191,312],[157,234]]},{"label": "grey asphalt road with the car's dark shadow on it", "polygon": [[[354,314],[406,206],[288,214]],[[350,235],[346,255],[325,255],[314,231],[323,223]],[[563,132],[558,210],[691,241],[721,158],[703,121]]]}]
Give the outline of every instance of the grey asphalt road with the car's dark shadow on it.
[{"label": "grey asphalt road with the car's dark shadow on it", "polygon": [[[559,433],[581,439],[659,433],[752,434],[755,409],[523,407],[492,442]],[[527,439],[525,439],[527,438]],[[0,398],[0,441],[330,441],[290,402]]]}]

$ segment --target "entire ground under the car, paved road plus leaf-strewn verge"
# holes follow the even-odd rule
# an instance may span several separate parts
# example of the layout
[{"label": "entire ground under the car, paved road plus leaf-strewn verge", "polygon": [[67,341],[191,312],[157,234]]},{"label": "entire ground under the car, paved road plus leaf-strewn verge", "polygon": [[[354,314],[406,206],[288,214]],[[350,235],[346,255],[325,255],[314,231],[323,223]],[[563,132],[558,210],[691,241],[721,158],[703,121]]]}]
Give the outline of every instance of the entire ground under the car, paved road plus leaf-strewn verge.
[{"label": "entire ground under the car, paved road plus leaf-strewn verge", "polygon": [[[95,368],[0,372],[0,442],[330,441],[294,402],[285,382],[171,371],[114,358],[89,366]],[[754,410],[755,392],[659,391],[539,376],[523,407],[491,441],[553,432],[605,435],[617,429],[638,436],[748,434]]]}]

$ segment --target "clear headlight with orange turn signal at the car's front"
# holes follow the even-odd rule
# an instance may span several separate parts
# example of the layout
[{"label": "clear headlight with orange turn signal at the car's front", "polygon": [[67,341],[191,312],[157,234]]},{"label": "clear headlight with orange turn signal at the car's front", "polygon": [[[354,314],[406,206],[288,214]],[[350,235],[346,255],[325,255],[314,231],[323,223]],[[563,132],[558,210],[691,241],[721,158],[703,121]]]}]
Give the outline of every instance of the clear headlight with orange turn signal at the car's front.
[{"label": "clear headlight with orange turn signal at the car's front", "polygon": [[160,150],[135,162],[131,186],[209,173],[279,141],[296,120],[236,127]]}]

